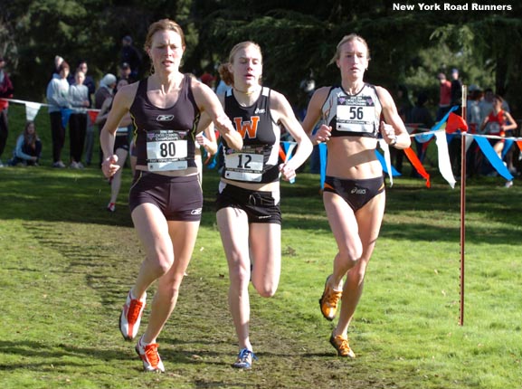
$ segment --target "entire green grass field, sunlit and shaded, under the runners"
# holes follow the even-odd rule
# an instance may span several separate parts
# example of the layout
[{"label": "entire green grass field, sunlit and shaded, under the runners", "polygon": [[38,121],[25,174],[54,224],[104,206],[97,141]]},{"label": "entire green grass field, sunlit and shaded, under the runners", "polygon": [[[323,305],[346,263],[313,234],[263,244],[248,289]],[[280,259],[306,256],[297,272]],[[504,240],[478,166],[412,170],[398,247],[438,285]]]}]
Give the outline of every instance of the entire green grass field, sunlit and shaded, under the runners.
[{"label": "entire green grass field, sunlit and shaded, under the runners", "polygon": [[[13,106],[10,147],[20,113]],[[280,288],[272,299],[251,289],[260,360],[242,372],[230,367],[237,346],[213,211],[218,177],[205,171],[195,253],[158,339],[166,374],[149,375],[118,329],[143,257],[126,208],[129,170],[117,212],[106,212],[109,186],[98,169],[48,167],[47,121],[41,112],[43,166],[0,169],[3,387],[522,388],[522,181],[510,189],[500,178],[468,182],[459,326],[459,188],[451,190],[436,171],[431,189],[421,180],[394,180],[350,328],[355,360],[335,356],[327,341],[333,324],[318,309],[336,253],[318,176],[283,183]],[[148,308],[145,323],[147,315]]]}]

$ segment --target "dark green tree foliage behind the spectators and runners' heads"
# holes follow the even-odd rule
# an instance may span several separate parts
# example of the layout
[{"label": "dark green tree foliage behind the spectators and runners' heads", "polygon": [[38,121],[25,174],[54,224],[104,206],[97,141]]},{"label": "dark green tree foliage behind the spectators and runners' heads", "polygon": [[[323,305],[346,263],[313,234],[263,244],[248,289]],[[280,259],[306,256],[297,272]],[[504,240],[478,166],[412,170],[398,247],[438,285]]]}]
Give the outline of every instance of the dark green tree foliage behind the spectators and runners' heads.
[{"label": "dark green tree foliage behind the spectators and runners' heads", "polygon": [[133,36],[141,48],[147,26],[169,17],[185,31],[184,71],[215,71],[235,43],[252,40],[263,51],[265,84],[298,102],[299,82],[310,72],[318,85],[338,81],[337,67],[329,64],[337,42],[358,33],[372,53],[367,81],[392,93],[398,84],[412,94],[425,90],[436,104],[435,74],[457,67],[465,84],[492,87],[507,98],[516,118],[522,116],[520,5],[474,13],[401,12],[393,5],[392,0],[3,0],[0,54],[8,59],[16,94],[42,100],[56,54],[71,66],[86,59],[100,79],[117,71],[123,35]]}]

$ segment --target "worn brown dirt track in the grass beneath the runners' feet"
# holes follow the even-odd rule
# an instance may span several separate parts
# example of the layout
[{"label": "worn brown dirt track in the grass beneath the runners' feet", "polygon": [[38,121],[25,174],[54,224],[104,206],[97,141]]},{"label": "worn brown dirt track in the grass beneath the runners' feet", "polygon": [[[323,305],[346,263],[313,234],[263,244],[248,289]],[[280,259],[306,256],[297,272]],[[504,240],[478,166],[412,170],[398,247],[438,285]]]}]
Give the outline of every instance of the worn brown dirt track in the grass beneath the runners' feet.
[{"label": "worn brown dirt track in the grass beneath the runners' feet", "polygon": [[[71,223],[26,227],[41,243],[62,252],[69,261],[67,272],[84,274],[86,285],[100,295],[100,319],[107,321],[107,316],[112,315],[116,323],[142,260],[135,232],[128,227],[110,227],[108,231],[107,226]],[[364,358],[337,357],[327,342],[328,334],[303,338],[296,333],[295,318],[290,327],[280,318],[270,318],[270,310],[265,307],[270,307],[272,301],[261,299],[253,289],[251,338],[259,361],[250,371],[233,369],[238,347],[227,303],[228,275],[208,274],[204,261],[191,265],[189,270],[176,310],[158,339],[167,373],[158,381],[147,379],[147,387],[165,387],[168,382],[172,387],[195,388],[395,387],[377,372],[367,371]],[[114,328],[107,331],[114,332]],[[136,365],[140,366],[138,358]]]}]

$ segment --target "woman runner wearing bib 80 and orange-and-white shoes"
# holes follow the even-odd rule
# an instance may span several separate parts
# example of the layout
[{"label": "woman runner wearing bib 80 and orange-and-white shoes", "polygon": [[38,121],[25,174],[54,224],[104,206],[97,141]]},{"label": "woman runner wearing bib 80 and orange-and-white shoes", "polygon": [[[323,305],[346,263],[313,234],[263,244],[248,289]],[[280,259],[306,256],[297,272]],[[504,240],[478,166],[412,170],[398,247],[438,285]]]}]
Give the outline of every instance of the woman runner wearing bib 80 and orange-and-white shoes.
[{"label": "woman runner wearing bib 80 and orange-and-white shoes", "polygon": [[129,290],[119,317],[127,340],[138,335],[147,289],[157,292],[147,328],[136,351],[146,371],[165,370],[157,353],[157,337],[176,307],[179,287],[194,250],[203,194],[195,165],[195,135],[205,112],[223,139],[241,149],[242,138],[223,112],[214,91],[179,71],[185,52],[181,27],[168,19],[151,24],[145,43],[154,72],[119,90],[100,134],[105,176],[119,169],[113,154],[119,121],[130,112],[134,124],[137,165],[129,193],[132,221],[146,258]]}]

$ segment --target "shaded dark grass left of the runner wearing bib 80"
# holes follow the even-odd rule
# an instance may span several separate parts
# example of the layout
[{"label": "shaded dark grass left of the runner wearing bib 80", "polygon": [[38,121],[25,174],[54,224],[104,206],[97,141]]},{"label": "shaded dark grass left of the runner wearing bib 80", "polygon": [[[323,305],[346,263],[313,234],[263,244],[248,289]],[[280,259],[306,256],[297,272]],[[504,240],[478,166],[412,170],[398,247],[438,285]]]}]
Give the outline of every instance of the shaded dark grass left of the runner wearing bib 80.
[{"label": "shaded dark grass left of the runner wearing bib 80", "polygon": [[[109,213],[110,187],[100,170],[5,167],[0,180],[0,219],[132,226],[121,187],[116,213]],[[128,174],[130,174],[128,172]]]}]

